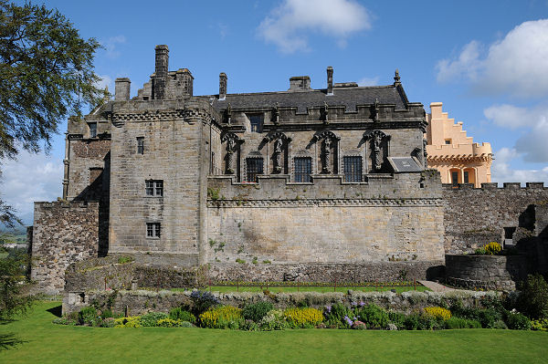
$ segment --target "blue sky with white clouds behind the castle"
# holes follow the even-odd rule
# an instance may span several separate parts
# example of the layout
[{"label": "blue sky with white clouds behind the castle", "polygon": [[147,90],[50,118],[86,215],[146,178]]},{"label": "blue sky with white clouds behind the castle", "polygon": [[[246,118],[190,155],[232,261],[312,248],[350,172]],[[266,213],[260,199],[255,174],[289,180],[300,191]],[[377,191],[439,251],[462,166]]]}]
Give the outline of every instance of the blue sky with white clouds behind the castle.
[{"label": "blue sky with white clouds behind the castle", "polygon": [[[23,4],[24,1],[16,1]],[[42,4],[41,2],[34,2]],[[132,96],[154,71],[154,46],[169,46],[170,70],[192,72],[195,95],[279,91],[292,76],[312,88],[333,82],[389,85],[399,69],[407,98],[443,102],[475,142],[495,154],[492,182],[548,186],[548,0],[50,0],[103,46],[101,86],[132,80]],[[1,161],[0,198],[32,224],[35,201],[62,194],[64,132],[48,153]]]}]

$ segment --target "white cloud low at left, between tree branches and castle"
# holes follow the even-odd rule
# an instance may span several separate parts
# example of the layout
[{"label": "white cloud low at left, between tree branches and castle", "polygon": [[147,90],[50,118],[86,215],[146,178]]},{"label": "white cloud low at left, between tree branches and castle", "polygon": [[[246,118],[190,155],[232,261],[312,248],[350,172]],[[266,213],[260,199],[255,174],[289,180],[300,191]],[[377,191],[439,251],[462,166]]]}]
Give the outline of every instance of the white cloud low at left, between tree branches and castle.
[{"label": "white cloud low at left, between tree branches and castle", "polygon": [[63,161],[20,151],[17,160],[2,161],[0,198],[32,224],[35,201],[56,201],[62,195]]}]

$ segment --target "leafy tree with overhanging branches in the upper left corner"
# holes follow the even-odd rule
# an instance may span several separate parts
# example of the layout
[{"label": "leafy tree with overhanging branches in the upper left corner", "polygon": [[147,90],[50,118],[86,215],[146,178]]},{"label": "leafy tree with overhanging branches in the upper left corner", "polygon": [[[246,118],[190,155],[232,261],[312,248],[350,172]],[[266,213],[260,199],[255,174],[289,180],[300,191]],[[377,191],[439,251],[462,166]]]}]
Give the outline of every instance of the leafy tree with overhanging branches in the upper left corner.
[{"label": "leafy tree with overhanging branches in the upper left corner", "polygon": [[[57,10],[0,0],[0,161],[21,148],[48,151],[60,120],[100,102],[93,70],[99,47]],[[0,201],[0,222],[16,221]]]}]

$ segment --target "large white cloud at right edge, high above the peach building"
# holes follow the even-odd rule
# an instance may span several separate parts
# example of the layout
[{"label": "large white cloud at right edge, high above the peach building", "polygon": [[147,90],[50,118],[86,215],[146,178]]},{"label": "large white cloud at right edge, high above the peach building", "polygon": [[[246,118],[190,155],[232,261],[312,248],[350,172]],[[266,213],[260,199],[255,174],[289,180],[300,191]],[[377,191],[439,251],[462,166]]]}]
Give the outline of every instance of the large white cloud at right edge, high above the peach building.
[{"label": "large white cloud at right edge, high above the peach building", "polygon": [[548,19],[524,22],[490,45],[486,55],[477,41],[458,57],[437,62],[437,80],[469,81],[485,94],[509,93],[544,98],[548,93]]}]

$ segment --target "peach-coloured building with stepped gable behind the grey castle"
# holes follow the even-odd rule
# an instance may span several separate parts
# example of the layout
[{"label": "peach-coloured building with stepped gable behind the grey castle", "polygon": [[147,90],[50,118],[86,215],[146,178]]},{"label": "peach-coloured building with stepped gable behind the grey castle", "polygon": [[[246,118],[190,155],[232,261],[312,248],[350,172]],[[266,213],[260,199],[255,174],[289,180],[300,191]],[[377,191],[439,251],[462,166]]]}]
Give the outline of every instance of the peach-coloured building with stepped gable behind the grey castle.
[{"label": "peach-coloured building with stepped gable behind the grey castle", "polygon": [[472,183],[477,188],[489,183],[493,161],[490,143],[475,143],[462,130],[462,121],[455,123],[441,108],[441,102],[432,102],[427,114],[428,166],[439,171],[442,183]]}]

